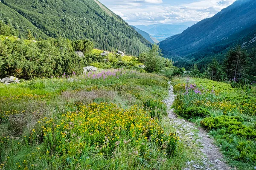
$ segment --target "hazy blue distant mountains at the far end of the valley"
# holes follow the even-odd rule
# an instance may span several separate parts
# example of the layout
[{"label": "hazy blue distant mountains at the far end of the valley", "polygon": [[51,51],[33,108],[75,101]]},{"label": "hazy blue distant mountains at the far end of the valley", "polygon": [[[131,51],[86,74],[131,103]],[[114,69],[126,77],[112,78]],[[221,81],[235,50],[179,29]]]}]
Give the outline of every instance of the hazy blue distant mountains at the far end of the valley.
[{"label": "hazy blue distant mountains at the far end of the valley", "polygon": [[170,37],[172,35],[180,34],[182,31],[188,28],[188,26],[186,25],[174,24],[154,24],[148,26],[140,25],[135,27],[142,31],[145,31],[159,41],[165,40],[167,37]]}]

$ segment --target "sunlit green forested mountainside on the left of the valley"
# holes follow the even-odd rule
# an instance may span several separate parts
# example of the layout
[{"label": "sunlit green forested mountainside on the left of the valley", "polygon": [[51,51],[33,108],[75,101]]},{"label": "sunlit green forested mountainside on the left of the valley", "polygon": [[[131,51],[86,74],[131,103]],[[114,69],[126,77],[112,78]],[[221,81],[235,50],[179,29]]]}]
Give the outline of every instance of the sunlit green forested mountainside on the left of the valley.
[{"label": "sunlit green forested mountainside on the left of the valley", "polygon": [[96,48],[118,48],[137,56],[150,42],[98,0],[1,0],[0,20],[25,38],[28,29],[37,37],[92,40]]}]

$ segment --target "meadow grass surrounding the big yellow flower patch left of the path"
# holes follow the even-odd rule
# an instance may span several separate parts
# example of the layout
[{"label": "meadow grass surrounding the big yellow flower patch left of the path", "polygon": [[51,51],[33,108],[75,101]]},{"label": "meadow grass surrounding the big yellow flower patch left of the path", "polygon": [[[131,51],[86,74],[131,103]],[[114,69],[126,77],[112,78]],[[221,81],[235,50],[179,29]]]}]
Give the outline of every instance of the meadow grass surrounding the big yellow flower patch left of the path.
[{"label": "meadow grass surrounding the big yellow flower patch left of the path", "polygon": [[[63,120],[61,115],[69,111],[67,105],[74,109],[77,107],[77,102],[82,102],[84,105],[93,102],[98,104],[108,102],[124,109],[131,109],[134,105],[137,108],[142,108],[145,101],[160,104],[160,101],[168,93],[168,79],[155,74],[127,71],[126,74],[118,78],[73,78],[74,82],[70,82],[66,78],[54,78],[33,79],[19,85],[0,84],[0,162],[3,162],[2,168],[41,170],[80,167],[81,169],[155,168],[165,170],[183,169],[186,167],[186,161],[195,160],[192,156],[194,151],[192,149],[184,150],[182,144],[178,145],[176,156],[170,159],[166,156],[165,150],[155,147],[155,143],[147,142],[146,139],[143,139],[144,143],[139,142],[137,145],[134,141],[136,138],[129,137],[129,130],[125,134],[120,134],[121,144],[113,153],[106,154],[102,151],[102,154],[96,145],[84,146],[81,153],[78,153],[80,152],[78,149],[73,150],[75,153],[70,150],[64,155],[54,152],[54,150],[50,150],[48,153],[47,140],[41,137],[42,125],[38,121],[43,122],[45,119],[53,118],[54,124],[58,125]],[[159,109],[160,114],[164,116],[163,108]],[[146,111],[146,114],[148,113],[149,111]],[[116,116],[120,115],[116,114]],[[139,118],[137,117],[137,119]],[[169,125],[168,119],[164,120],[159,125],[163,126],[165,132],[174,131]],[[142,123],[145,124],[148,121]],[[46,122],[44,126],[47,126]],[[69,130],[67,129],[67,131]],[[94,132],[91,133],[94,134]],[[104,133],[104,130],[101,130],[101,133]],[[36,139],[35,143],[30,142],[34,139],[28,137],[33,137],[33,135]],[[71,142],[71,136],[67,137],[67,140]],[[130,143],[124,144],[123,141],[130,141]],[[145,154],[142,154],[143,148],[149,150],[145,150]],[[75,159],[77,155],[81,155],[81,159]]]}]

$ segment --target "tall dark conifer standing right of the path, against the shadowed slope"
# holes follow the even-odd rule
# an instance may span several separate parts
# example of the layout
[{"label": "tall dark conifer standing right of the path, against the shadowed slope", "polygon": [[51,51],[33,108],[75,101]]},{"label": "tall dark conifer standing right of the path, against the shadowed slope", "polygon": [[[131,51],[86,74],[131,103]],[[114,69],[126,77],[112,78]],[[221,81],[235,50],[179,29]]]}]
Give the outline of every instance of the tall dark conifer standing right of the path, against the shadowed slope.
[{"label": "tall dark conifer standing right of the path, against the shadowed slope", "polygon": [[248,70],[248,56],[246,52],[237,46],[227,53],[225,61],[227,78],[228,79],[242,79],[245,77]]}]

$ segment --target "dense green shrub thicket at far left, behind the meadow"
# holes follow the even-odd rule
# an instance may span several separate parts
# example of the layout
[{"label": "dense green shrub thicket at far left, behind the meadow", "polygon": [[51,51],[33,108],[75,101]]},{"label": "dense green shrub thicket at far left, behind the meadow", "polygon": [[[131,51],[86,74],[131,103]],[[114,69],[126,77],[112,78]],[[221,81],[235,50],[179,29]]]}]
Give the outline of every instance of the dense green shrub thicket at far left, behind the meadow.
[{"label": "dense green shrub thicket at far left, behind the meadow", "polygon": [[0,77],[58,77],[82,73],[84,58],[75,54],[72,41],[63,38],[25,42],[0,41]]}]

